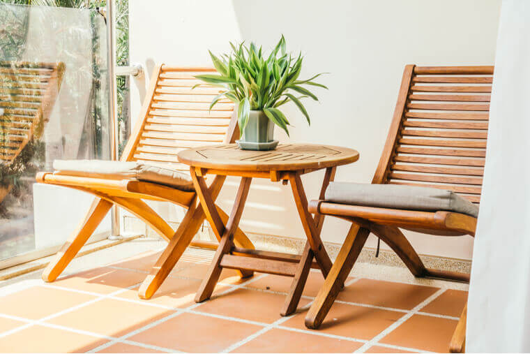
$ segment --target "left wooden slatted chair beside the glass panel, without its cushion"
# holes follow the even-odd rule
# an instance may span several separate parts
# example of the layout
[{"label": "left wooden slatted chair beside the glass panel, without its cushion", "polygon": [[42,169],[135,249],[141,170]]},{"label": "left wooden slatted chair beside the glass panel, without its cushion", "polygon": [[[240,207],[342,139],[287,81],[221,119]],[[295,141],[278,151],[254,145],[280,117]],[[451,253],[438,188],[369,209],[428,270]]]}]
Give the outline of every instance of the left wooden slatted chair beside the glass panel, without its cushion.
[{"label": "left wooden slatted chair beside the glass panel, without its cushion", "polygon": [[[239,136],[234,104],[221,101],[209,111],[211,99],[220,89],[206,85],[192,89],[200,82],[194,75],[211,71],[215,69],[180,68],[164,64],[156,66],[140,117],[123,150],[121,161],[138,161],[183,171],[190,179],[188,166],[178,163],[176,159],[178,152],[190,147],[234,142]],[[209,189],[213,198],[218,196],[225,178],[215,177],[211,182]],[[68,175],[61,171],[40,172],[37,180],[40,183],[68,186],[97,197],[75,233],[43,272],[45,281],[54,281],[61,274],[114,204],[135,214],[169,242],[139,289],[139,296],[147,299],[172,270],[204,220],[204,212],[195,191],[135,178],[84,177],[82,173]],[[188,211],[179,228],[174,231],[142,199],[172,202],[188,208]],[[220,208],[218,211],[226,222],[227,214]],[[235,237],[240,246],[253,248],[241,230],[236,231]],[[241,272],[242,276],[250,274]]]}]

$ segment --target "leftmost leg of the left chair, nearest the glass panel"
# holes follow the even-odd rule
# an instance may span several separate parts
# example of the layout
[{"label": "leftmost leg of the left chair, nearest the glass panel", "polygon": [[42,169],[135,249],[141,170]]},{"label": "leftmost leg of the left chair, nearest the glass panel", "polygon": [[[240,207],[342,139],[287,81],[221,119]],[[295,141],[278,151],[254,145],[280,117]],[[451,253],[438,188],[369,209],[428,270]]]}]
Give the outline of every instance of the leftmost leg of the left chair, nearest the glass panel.
[{"label": "leftmost leg of the left chair, nearest the glass panel", "polygon": [[79,249],[86,243],[94,230],[101,223],[107,212],[112,207],[112,202],[96,198],[86,213],[82,223],[78,226],[75,233],[66,241],[61,249],[56,253],[55,258],[47,265],[43,272],[43,281],[54,281],[57,279],[68,263],[75,257]]}]

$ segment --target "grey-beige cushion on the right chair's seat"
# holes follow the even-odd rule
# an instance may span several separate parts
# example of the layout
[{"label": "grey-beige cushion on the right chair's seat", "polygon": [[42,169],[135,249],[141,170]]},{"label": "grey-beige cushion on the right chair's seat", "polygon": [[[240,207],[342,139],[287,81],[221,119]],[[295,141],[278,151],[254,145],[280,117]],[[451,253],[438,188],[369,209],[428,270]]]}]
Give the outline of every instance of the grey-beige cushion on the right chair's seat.
[{"label": "grey-beige cushion on the right chair's seat", "polygon": [[453,191],[398,184],[331,182],[326,200],[364,207],[437,212],[440,210],[478,216],[478,207]]}]

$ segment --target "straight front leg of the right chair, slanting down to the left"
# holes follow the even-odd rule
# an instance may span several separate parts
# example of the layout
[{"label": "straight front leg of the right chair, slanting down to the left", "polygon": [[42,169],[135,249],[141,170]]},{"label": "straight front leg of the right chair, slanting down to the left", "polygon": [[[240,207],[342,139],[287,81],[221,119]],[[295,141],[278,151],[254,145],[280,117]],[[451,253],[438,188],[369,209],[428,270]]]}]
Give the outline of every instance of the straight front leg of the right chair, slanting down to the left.
[{"label": "straight front leg of the right chair, slanting down to the left", "polygon": [[317,329],[328,314],[331,305],[335,301],[342,284],[346,281],[351,268],[357,260],[363,246],[370,235],[370,230],[360,228],[356,223],[351,225],[348,235],[340,252],[326,276],[324,285],[320,288],[315,301],[311,305],[308,315],[305,317],[305,326]]}]

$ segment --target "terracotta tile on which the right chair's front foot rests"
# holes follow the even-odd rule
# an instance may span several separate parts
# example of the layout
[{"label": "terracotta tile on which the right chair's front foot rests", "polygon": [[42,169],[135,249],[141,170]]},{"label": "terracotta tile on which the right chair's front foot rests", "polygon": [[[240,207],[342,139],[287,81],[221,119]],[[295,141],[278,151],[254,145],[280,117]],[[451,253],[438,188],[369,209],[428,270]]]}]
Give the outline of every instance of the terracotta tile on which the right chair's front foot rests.
[{"label": "terracotta tile on which the right chair's front foot rests", "polygon": [[[293,318],[282,323],[282,325],[307,330],[308,328],[305,327],[304,323],[306,314],[307,311],[296,314]],[[318,331],[343,337],[369,340],[403,315],[401,312],[396,311],[335,302]]]}]

